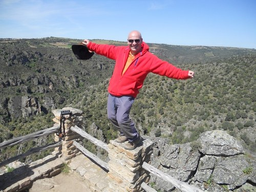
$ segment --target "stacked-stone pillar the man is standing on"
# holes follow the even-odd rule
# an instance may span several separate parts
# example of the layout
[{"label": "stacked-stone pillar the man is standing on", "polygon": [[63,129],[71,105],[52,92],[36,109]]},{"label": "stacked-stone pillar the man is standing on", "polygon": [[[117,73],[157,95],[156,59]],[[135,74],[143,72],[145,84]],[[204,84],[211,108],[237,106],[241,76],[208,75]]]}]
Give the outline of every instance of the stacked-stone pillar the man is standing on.
[{"label": "stacked-stone pillar the man is standing on", "polygon": [[134,150],[125,150],[122,143],[111,140],[109,146],[109,186],[116,191],[143,191],[142,182],[150,181],[150,174],[142,168],[150,163],[153,142],[143,140]]}]

